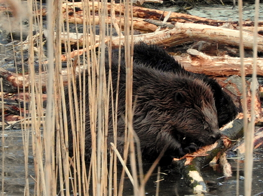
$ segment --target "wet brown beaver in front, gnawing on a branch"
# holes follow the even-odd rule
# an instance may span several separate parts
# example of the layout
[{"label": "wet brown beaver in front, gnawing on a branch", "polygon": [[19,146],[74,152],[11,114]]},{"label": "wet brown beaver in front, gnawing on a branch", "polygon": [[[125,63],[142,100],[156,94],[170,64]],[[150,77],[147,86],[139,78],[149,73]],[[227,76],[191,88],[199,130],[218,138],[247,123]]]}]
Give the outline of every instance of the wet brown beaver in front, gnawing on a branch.
[{"label": "wet brown beaver in front, gnawing on a branch", "polygon": [[[135,57],[136,58],[136,57]],[[109,63],[105,63],[106,80],[108,81]],[[86,72],[83,74],[87,74]],[[116,98],[118,56],[113,53],[111,62],[113,100]],[[87,76],[87,75],[86,75]],[[88,81],[88,80],[86,80]],[[125,62],[120,65],[117,115],[117,149],[123,153],[125,113]],[[77,99],[79,79],[76,79]],[[87,82],[86,82],[87,83]],[[85,84],[87,88],[89,85]],[[163,71],[141,62],[133,65],[133,129],[140,139],[144,162],[153,162],[166,146],[164,157],[180,158],[186,153],[195,151],[201,146],[209,145],[221,136],[217,112],[211,87],[203,80],[189,74],[178,74],[174,71]],[[86,93],[88,90],[86,89]],[[86,95],[86,98],[88,95]],[[68,90],[65,90],[68,100]],[[116,101],[116,100],[114,100]],[[86,101],[89,104],[89,100]],[[109,111],[112,105],[109,104]],[[69,151],[73,150],[72,129],[68,112]],[[85,121],[85,157],[88,161],[91,154],[91,129],[89,107],[86,107]],[[113,119],[109,115],[107,142],[113,142]],[[168,163],[169,164],[169,163]]]}]

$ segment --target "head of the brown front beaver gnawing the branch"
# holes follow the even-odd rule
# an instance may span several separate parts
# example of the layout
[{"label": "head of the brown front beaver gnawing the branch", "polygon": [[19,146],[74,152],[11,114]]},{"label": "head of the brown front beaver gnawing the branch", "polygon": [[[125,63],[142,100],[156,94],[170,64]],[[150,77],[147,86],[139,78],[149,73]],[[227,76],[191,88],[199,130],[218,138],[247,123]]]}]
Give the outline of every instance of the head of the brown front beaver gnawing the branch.
[{"label": "head of the brown front beaver gnawing the branch", "polygon": [[199,145],[214,143],[221,134],[210,87],[196,79],[181,81],[181,84],[184,87],[175,93],[178,106],[173,124],[176,132],[184,136],[181,142],[195,142]]}]

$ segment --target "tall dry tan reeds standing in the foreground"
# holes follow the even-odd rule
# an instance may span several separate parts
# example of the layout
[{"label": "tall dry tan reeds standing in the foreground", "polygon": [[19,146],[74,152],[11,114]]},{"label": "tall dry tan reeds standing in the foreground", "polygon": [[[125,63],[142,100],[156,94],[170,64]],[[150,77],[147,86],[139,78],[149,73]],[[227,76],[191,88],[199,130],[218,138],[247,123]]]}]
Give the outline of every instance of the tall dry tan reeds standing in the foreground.
[{"label": "tall dry tan reeds standing in the foreground", "polygon": [[[142,160],[140,154],[140,141],[133,130],[133,107],[136,104],[132,99],[132,75],[133,75],[133,23],[129,23],[129,18],[133,17],[133,9],[131,1],[120,2],[124,5],[124,35],[121,29],[116,28],[119,36],[124,36],[124,42],[119,41],[119,46],[125,46],[125,66],[126,66],[126,112],[125,119],[125,138],[124,138],[124,153],[120,157],[116,150],[117,145],[117,105],[118,105],[118,83],[119,75],[117,78],[117,92],[114,97],[111,68],[106,75],[105,72],[105,55],[109,58],[109,67],[111,67],[111,40],[112,40],[112,27],[108,27],[107,22],[113,23],[108,20],[107,1],[102,0],[98,14],[100,16],[100,42],[97,43],[95,36],[95,9],[94,1],[82,0],[83,6],[83,48],[86,51],[82,55],[78,55],[71,59],[70,52],[72,51],[70,40],[64,44],[65,55],[67,57],[67,85],[63,82],[62,76],[62,47],[61,47],[61,34],[69,34],[70,24],[69,18],[64,21],[62,16],[62,0],[47,0],[47,32],[45,36],[48,40],[47,49],[43,47],[45,44],[42,38],[34,40],[33,27],[37,27],[39,37],[44,35],[43,29],[45,21],[36,13],[42,10],[42,2],[40,1],[39,7],[36,0],[27,0],[29,15],[29,35],[28,35],[28,66],[30,76],[29,86],[29,114],[22,124],[22,134],[24,143],[25,154],[25,195],[30,195],[29,177],[28,177],[28,153],[29,153],[29,138],[30,133],[32,137],[32,149],[34,158],[34,181],[35,195],[125,195],[123,193],[124,178],[128,176],[129,180],[134,186],[134,195],[144,195],[144,186],[149,179],[150,173],[157,165],[157,161],[151,167],[150,171],[143,175]],[[66,3],[67,6],[74,6],[73,3]],[[242,14],[242,0],[239,1],[239,12]],[[256,8],[258,8],[258,0],[256,0]],[[92,8],[92,9],[91,9]],[[113,11],[114,1],[111,4]],[[121,6],[120,6],[120,9]],[[75,13],[75,9],[73,9]],[[121,11],[120,11],[121,13]],[[258,10],[256,9],[256,13]],[[70,13],[66,13],[68,17]],[[113,14],[113,12],[111,13]],[[75,14],[74,14],[75,16]],[[75,16],[76,17],[76,16]],[[257,22],[258,14],[255,15],[255,24]],[[20,24],[22,23],[21,19]],[[113,20],[113,17],[111,17]],[[76,21],[76,20],[75,20]],[[132,21],[132,20],[131,20]],[[64,26],[65,22],[65,26]],[[242,24],[242,16],[240,16],[240,23]],[[78,35],[77,23],[76,36]],[[121,26],[119,24],[119,26]],[[66,29],[65,29],[66,27]],[[20,25],[22,29],[22,25]],[[110,33],[108,33],[110,31]],[[21,30],[22,32],[22,30]],[[55,34],[54,34],[55,32]],[[22,33],[21,33],[22,35]],[[256,35],[256,28],[255,28]],[[22,37],[22,36],[21,36]],[[245,91],[245,75],[243,66],[244,48],[242,45],[242,26],[240,26],[240,57],[242,66],[243,77],[243,95]],[[105,40],[107,42],[105,42]],[[21,38],[22,43],[22,38]],[[36,50],[37,48],[37,50]],[[76,50],[80,50],[78,43]],[[97,50],[98,49],[98,50]],[[108,50],[106,50],[108,49]],[[23,57],[24,50],[21,45],[20,50]],[[108,53],[108,54],[107,54]],[[119,48],[120,53],[120,48]],[[254,41],[254,59],[256,59],[256,38]],[[14,54],[15,55],[15,54]],[[37,57],[37,58],[36,58]],[[47,58],[48,57],[48,58]],[[47,71],[46,92],[48,95],[47,109],[43,111],[43,92],[40,82],[44,79],[41,74],[35,73],[35,61],[39,62],[39,72],[42,71],[42,66]],[[120,58],[119,66],[120,66]],[[22,60],[22,74],[25,75],[24,61]],[[48,63],[46,63],[48,62]],[[255,65],[255,62],[254,62]],[[254,69],[255,70],[255,69]],[[86,72],[86,74],[81,74]],[[256,85],[256,72],[253,73],[252,96],[255,96]],[[79,88],[76,87],[76,78],[81,81]],[[108,77],[108,80],[106,78]],[[69,100],[65,100],[65,89],[69,93]],[[79,89],[79,91],[77,91]],[[18,89],[19,91],[19,89]],[[3,88],[1,80],[1,92],[3,100]],[[25,85],[23,92],[26,92]],[[77,95],[80,99],[77,99]],[[251,194],[251,174],[252,174],[252,136],[253,136],[253,123],[254,113],[253,107],[251,108],[251,123],[247,122],[247,101],[246,96],[243,96],[244,106],[244,129],[246,140],[246,164],[245,164],[245,192],[246,195]],[[24,95],[24,101],[26,97]],[[89,100],[87,102],[86,100]],[[252,99],[253,100],[253,99]],[[112,105],[112,111],[109,110],[109,104]],[[69,113],[66,107],[69,107]],[[253,106],[253,103],[252,103]],[[89,109],[90,119],[86,119],[85,111]],[[22,115],[22,114],[21,114]],[[68,122],[67,115],[71,119],[71,129],[73,137],[73,156],[69,157],[68,151]],[[2,102],[2,116],[4,116],[4,108]],[[43,117],[45,116],[45,118]],[[108,134],[108,119],[111,116],[113,120],[114,142],[111,144],[112,148],[107,143]],[[42,124],[43,119],[45,123]],[[92,137],[92,154],[89,164],[85,162],[85,122],[90,121],[91,137]],[[4,125],[4,117],[2,117],[2,124]],[[2,127],[2,146],[4,146],[4,126]],[[5,148],[2,148],[2,195],[4,194],[4,168],[5,168]],[[118,161],[120,160],[120,161]],[[127,160],[129,160],[131,171],[126,167]],[[122,163],[123,167],[118,162]],[[139,163],[139,164],[138,164]],[[117,173],[121,171],[120,180],[118,181]],[[138,178],[139,173],[139,178]],[[159,185],[158,185],[159,188]],[[158,194],[158,192],[156,193]]]}]

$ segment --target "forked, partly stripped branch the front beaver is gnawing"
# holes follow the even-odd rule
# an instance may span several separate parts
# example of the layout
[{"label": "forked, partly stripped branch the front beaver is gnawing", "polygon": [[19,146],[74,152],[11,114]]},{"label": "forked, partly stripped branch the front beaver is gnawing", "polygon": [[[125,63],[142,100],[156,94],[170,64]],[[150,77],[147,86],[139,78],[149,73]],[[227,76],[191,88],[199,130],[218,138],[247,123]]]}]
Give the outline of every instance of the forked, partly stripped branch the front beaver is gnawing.
[{"label": "forked, partly stripped branch the front beaver is gnawing", "polygon": [[236,119],[230,122],[223,129],[222,135],[223,137],[214,144],[204,146],[192,154],[186,154],[183,158],[173,161],[173,169],[182,174],[186,184],[196,193],[208,190],[200,168],[208,165],[211,161],[216,162],[228,148],[236,143],[237,139],[243,136],[243,120]]}]

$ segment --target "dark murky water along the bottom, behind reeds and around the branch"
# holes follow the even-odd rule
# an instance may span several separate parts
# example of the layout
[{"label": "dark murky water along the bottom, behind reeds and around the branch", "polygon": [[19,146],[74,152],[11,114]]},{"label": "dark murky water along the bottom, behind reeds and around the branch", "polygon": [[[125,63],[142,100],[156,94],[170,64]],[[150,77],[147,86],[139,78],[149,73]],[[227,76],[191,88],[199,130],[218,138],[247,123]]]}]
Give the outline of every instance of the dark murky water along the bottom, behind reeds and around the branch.
[{"label": "dark murky water along the bottom, behind reeds and around the branch", "polygon": [[[2,134],[0,146],[2,145]],[[22,131],[5,131],[5,195],[23,195],[25,185],[25,167],[24,167],[24,151],[23,151],[23,139]],[[2,148],[1,148],[2,149]],[[34,176],[33,156],[32,148],[29,146],[29,158],[28,158],[28,173]],[[3,152],[0,151],[0,171],[2,175],[2,156]],[[209,192],[206,195],[224,195],[231,196],[236,195],[236,162],[235,159],[230,159],[229,162],[233,168],[233,177],[230,179],[222,178],[223,174],[219,170],[213,171],[211,167],[205,167],[202,169],[202,176],[208,183]],[[181,175],[176,172],[169,173],[168,170],[161,170],[161,181],[159,195],[191,195],[193,194],[191,188],[187,187]],[[156,179],[157,172],[155,171],[149,179],[145,191],[146,195],[155,195],[156,191]],[[166,175],[167,174],[167,175]],[[243,194],[243,182],[242,176],[242,164],[240,170],[240,195]],[[29,185],[31,193],[33,194],[34,181],[29,176]],[[254,167],[253,167],[253,181],[252,181],[252,195],[263,191],[263,149],[255,151]],[[2,187],[2,181],[0,181],[0,187]],[[129,180],[126,179],[123,195],[133,195],[133,187]]]}]

